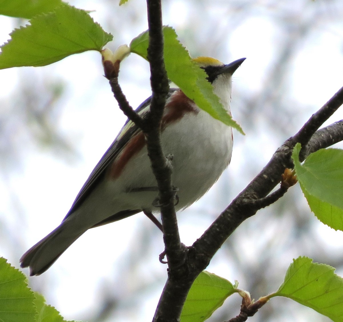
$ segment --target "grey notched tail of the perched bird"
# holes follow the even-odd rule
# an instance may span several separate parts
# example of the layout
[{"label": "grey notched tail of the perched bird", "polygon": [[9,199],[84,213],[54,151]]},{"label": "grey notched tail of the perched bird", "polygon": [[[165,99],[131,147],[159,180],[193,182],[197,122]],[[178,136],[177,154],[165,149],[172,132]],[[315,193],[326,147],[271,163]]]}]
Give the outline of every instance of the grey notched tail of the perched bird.
[{"label": "grey notched tail of the perched bird", "polygon": [[20,266],[29,267],[30,276],[44,273],[84,232],[70,231],[63,221],[49,235],[25,252],[20,259]]}]

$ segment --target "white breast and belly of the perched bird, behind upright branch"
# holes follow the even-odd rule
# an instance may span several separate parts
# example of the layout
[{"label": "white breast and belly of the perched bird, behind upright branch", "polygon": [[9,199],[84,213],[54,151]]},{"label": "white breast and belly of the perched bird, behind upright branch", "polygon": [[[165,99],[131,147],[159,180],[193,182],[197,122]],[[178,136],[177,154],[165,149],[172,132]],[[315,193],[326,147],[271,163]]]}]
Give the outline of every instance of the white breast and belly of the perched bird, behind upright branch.
[{"label": "white breast and belly of the perched bird, behind upright branch", "polygon": [[[178,188],[177,210],[191,205],[211,188],[229,164],[233,145],[231,128],[202,110],[170,124],[162,132],[161,142],[165,155],[172,153],[174,157],[172,179]],[[129,160],[120,177],[108,186],[108,192],[113,196],[113,188],[123,192],[153,186],[156,181],[144,147]],[[157,192],[119,195],[119,199],[114,198],[114,203],[126,203],[130,209],[134,205],[137,209],[158,210],[151,206]]]}]

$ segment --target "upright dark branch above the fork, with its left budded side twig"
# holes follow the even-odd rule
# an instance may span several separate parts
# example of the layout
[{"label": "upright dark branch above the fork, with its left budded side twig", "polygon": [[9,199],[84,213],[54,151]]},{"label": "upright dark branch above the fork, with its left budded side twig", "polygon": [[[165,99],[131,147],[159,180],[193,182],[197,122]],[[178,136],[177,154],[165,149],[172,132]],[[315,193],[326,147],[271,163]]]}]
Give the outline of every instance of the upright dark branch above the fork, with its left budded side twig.
[{"label": "upright dark branch above the fork, with its left budded side twig", "polygon": [[[158,187],[158,197],[153,205],[161,209],[165,254],[171,274],[173,268],[177,268],[179,262],[184,259],[185,246],[180,242],[174,206],[177,187],[173,187],[171,181],[173,155],[169,153],[168,157],[164,156],[160,139],[161,121],[169,92],[164,65],[161,0],[147,0],[147,15],[149,24],[147,58],[150,63],[152,97],[150,110],[144,118],[130,106],[118,83],[120,62],[130,53],[129,47],[119,46],[114,53],[109,49],[104,49],[102,60],[105,77],[109,80],[120,109],[145,135],[146,148]],[[158,221],[154,222],[158,225]]]}]

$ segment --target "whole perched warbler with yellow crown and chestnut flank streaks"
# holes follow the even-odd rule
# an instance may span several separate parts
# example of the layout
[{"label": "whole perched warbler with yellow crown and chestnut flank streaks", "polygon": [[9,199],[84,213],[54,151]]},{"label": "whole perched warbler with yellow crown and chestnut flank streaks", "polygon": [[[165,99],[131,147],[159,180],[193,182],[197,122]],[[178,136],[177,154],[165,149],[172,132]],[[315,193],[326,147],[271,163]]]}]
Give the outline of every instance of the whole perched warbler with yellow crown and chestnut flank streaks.
[{"label": "whole perched warbler with yellow crown and chestnut flank streaks", "polygon": [[[232,75],[245,58],[229,64],[211,57],[193,60],[206,72],[213,92],[227,113],[231,113]],[[151,97],[137,108],[141,117],[149,111],[150,102]],[[161,145],[164,153],[173,156],[175,210],[183,210],[202,197],[229,165],[232,128],[201,110],[181,89],[170,88],[162,116]],[[40,275],[88,229],[142,211],[151,218],[152,213],[159,211],[154,203],[156,187],[144,134],[128,120],[91,172],[61,224],[24,253],[21,267],[29,267],[30,276]]]}]

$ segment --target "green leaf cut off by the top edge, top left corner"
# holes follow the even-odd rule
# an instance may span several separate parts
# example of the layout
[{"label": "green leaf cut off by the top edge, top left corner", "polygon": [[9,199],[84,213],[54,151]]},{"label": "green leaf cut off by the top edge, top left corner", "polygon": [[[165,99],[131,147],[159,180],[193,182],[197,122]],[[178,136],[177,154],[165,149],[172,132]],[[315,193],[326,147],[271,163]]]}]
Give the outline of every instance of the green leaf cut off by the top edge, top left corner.
[{"label": "green leaf cut off by the top edge, top left corner", "polygon": [[61,0],[0,0],[0,14],[27,18],[53,11],[62,4]]}]

